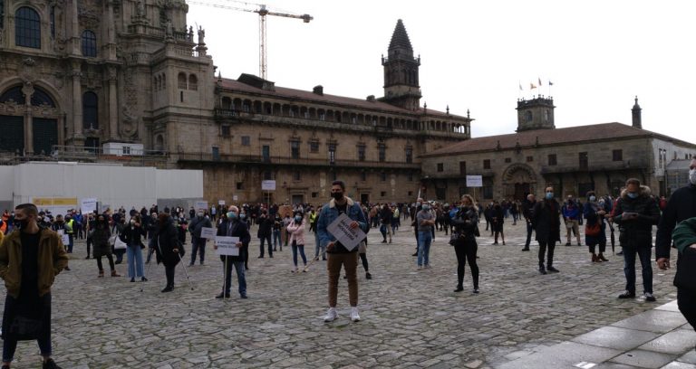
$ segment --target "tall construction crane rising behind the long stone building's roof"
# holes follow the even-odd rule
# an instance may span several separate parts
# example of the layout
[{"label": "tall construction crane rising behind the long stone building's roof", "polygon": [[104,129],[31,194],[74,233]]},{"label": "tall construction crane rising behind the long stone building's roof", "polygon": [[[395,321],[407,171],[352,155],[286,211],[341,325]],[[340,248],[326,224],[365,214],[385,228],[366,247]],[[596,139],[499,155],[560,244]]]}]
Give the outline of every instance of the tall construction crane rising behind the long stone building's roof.
[{"label": "tall construction crane rising behind the long stone building's roof", "polygon": [[264,80],[266,80],[268,77],[268,41],[266,39],[266,15],[275,15],[275,16],[282,16],[285,18],[302,19],[302,21],[304,23],[309,23],[309,21],[314,19],[314,17],[309,15],[309,14],[290,14],[290,13],[271,12],[268,10],[268,8],[266,8],[266,5],[263,5],[263,4],[245,3],[245,2],[234,1],[234,0],[227,0],[227,2],[237,3],[240,5],[255,6],[256,8],[252,9],[249,7],[216,4],[216,3],[198,1],[198,0],[187,1],[187,3],[189,3],[189,4],[212,6],[212,7],[217,7],[220,9],[230,9],[230,10],[237,10],[240,12],[248,12],[248,13],[258,14],[258,74]]}]

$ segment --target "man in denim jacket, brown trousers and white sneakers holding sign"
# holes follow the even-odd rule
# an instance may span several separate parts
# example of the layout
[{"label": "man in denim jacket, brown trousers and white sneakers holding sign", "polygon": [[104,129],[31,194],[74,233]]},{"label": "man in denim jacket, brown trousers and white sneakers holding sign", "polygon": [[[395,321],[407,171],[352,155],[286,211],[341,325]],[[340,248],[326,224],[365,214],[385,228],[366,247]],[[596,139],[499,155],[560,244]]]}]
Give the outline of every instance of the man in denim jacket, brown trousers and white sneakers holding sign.
[{"label": "man in denim jacket, brown trousers and white sneakers holding sign", "polygon": [[352,220],[348,227],[352,230],[360,228],[362,232],[368,232],[369,224],[362,213],[358,203],[350,197],[346,197],[345,184],[343,181],[333,181],[331,195],[333,199],[322,208],[316,231],[319,234],[319,242],[326,247],[328,261],[326,269],[329,275],[329,311],[324,317],[324,322],[332,322],[338,318],[336,312],[336,300],[338,299],[338,278],[341,274],[341,266],[345,268],[345,275],[348,279],[348,296],[351,304],[351,320],[360,320],[358,314],[358,278],[356,270],[358,267],[358,248],[347,249],[340,241],[336,241],[336,234],[329,232],[329,224],[333,224],[340,215],[345,215]]}]

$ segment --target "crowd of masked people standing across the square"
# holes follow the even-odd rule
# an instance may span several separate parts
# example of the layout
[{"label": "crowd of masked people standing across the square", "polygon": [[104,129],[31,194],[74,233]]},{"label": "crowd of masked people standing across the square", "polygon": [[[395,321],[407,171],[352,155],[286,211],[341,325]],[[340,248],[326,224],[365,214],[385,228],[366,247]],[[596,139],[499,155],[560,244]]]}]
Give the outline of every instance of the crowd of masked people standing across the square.
[{"label": "crowd of masked people standing across the square", "polygon": [[[109,260],[111,277],[120,277],[115,266],[127,255],[128,277],[147,281],[144,264],[156,256],[165,266],[167,284],[162,292],[174,289],[174,271],[185,255],[187,233],[191,236],[189,266],[205,263],[207,237],[205,229],[217,228],[218,236],[237,237],[235,255],[221,256],[224,280],[216,298],[229,298],[232,286],[232,270],[236,270],[240,298],[247,298],[246,273],[248,270],[251,227],[257,225],[259,240],[258,258],[274,257],[275,251],[289,246],[292,250],[293,273],[307,270],[308,258],[304,246],[308,233],[314,232],[314,258],[310,262],[326,260],[328,270],[328,312],[325,322],[338,318],[336,304],[338,280],[341,270],[348,282],[351,320],[360,320],[358,312],[357,267],[362,261],[366,279],[372,279],[368,270],[367,238],[359,246],[349,247],[338,241],[329,225],[340,216],[350,219],[348,227],[355,232],[379,229],[382,243],[391,243],[401,221],[413,228],[416,245],[415,265],[418,270],[430,269],[430,245],[435,232],[449,235],[449,244],[457,259],[457,284],[455,292],[464,289],[466,265],[469,264],[473,293],[479,293],[478,238],[479,226],[490,232],[492,245],[498,239],[505,245],[503,225],[512,218],[513,225],[524,221],[527,239],[522,251],[530,251],[532,235],[538,242],[538,271],[542,275],[558,273],[554,266],[556,244],[561,243],[562,224],[565,226],[565,246],[576,241],[591,254],[591,262],[607,261],[604,256],[607,234],[614,248],[614,230],[618,228],[618,243],[622,248],[625,290],[618,298],[636,297],[635,261],[641,262],[643,298],[655,301],[652,291],[652,228],[657,226],[655,241],[658,268],[670,268],[670,249],[674,244],[680,255],[675,285],[678,288],[679,308],[692,326],[696,327],[696,158],[691,161],[690,185],[672,194],[669,201],[657,198],[650,188],[636,178],[630,178],[614,198],[598,196],[594,191],[585,194],[585,203],[569,195],[559,203],[554,187],[545,188],[544,197],[536,200],[527,194],[523,201],[493,201],[479,206],[476,199],[464,194],[455,202],[438,203],[419,198],[415,203],[358,203],[346,196],[342,181],[332,184],[332,198],[321,206],[311,203],[290,205],[263,203],[242,205],[216,205],[209,209],[185,211],[182,207],[158,206],[130,212],[120,208],[115,211],[82,214],[70,211],[66,214],[39,212],[33,204],[18,205],[14,212],[5,211],[0,221],[0,277],[5,279],[8,294],[3,319],[4,363],[9,367],[17,340],[37,339],[44,357],[44,367],[57,367],[51,359],[50,344],[50,286],[53,277],[68,268],[68,254],[73,252],[75,239],[86,239],[86,259],[95,259],[98,278],[104,277],[102,257]],[[481,222],[481,219],[483,222]],[[581,226],[584,225],[584,232]],[[672,233],[673,232],[673,233]],[[59,235],[59,233],[62,233]],[[62,239],[67,237],[63,246]],[[45,246],[43,246],[45,244]],[[38,247],[42,245],[41,247]],[[218,248],[217,244],[213,246]],[[50,251],[50,252],[49,252]],[[147,252],[143,260],[143,252]],[[116,255],[113,260],[112,255]],[[21,258],[20,258],[21,257]],[[18,259],[19,258],[19,259]],[[299,259],[298,259],[299,258]],[[22,260],[21,266],[17,261]],[[32,260],[40,260],[37,264]],[[359,261],[360,260],[360,261]],[[22,270],[22,271],[19,271]],[[188,278],[188,273],[187,273]],[[19,283],[20,280],[30,283]],[[48,282],[44,282],[49,280]],[[190,281],[189,281],[190,283]],[[36,289],[39,287],[39,289]],[[24,308],[28,313],[24,313]],[[28,316],[28,317],[27,317]],[[18,318],[33,319],[34,326],[17,328]],[[38,323],[36,323],[38,322]],[[32,326],[32,325],[28,325]],[[47,328],[48,327],[48,328]],[[19,329],[19,330],[18,330]],[[48,365],[48,366],[46,366]],[[51,366],[53,365],[53,366]]]}]

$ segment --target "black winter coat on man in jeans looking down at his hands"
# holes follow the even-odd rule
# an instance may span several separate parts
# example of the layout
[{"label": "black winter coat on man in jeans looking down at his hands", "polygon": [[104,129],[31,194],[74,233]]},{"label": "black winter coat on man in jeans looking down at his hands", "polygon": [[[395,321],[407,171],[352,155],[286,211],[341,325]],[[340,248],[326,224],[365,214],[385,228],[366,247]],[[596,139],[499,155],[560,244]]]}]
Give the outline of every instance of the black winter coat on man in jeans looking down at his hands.
[{"label": "black winter coat on man in jeans looking down at his hands", "polygon": [[[638,213],[638,218],[624,220],[623,213]],[[652,225],[660,222],[660,208],[651,197],[650,188],[642,185],[634,199],[623,190],[614,209],[614,222],[619,225],[622,247],[652,247]]]}]

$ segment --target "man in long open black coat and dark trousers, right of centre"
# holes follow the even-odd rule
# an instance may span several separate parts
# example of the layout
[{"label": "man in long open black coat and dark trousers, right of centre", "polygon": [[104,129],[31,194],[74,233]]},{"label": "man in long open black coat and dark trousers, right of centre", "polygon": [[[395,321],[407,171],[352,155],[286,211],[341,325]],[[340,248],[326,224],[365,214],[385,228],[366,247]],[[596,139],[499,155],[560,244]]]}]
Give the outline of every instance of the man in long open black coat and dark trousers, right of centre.
[{"label": "man in long open black coat and dark trousers, right of centre", "polygon": [[[532,224],[536,230],[536,241],[539,242],[539,273],[546,274],[546,270],[557,273],[554,268],[554,250],[556,242],[561,241],[561,205],[554,197],[554,187],[546,187],[544,200],[534,205],[532,212]],[[548,254],[546,254],[548,248]],[[546,256],[546,268],[544,257]]]}]

